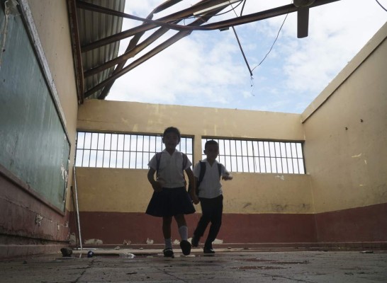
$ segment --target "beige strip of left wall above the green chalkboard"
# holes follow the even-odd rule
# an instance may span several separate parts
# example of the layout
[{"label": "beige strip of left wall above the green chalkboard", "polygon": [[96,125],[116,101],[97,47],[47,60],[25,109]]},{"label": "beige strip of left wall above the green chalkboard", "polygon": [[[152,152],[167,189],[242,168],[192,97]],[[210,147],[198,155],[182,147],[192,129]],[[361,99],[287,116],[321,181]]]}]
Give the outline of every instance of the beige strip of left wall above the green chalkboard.
[{"label": "beige strip of left wall above the green chalkboard", "polygon": [[[45,59],[52,75],[52,87],[57,91],[59,107],[62,109],[65,127],[72,145],[69,165],[69,185],[72,180],[72,164],[77,134],[77,88],[74,75],[74,59],[69,30],[67,1],[28,1],[38,36],[45,53]],[[69,209],[67,194],[67,209]]]}]

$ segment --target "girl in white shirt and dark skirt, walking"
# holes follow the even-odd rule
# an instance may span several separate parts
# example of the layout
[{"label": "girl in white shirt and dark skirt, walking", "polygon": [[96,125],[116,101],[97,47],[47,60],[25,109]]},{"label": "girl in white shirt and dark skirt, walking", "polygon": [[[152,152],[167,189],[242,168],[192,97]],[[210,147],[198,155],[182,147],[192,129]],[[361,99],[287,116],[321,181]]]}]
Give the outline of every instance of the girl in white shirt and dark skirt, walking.
[{"label": "girl in white shirt and dark skirt, walking", "polygon": [[[147,178],[154,192],[146,213],[162,217],[162,233],[165,242],[164,257],[174,258],[171,238],[172,216],[179,227],[181,250],[184,255],[189,255],[191,253],[191,243],[187,241],[188,227],[184,214],[193,214],[195,212],[191,199],[195,204],[198,204],[198,197],[195,192],[190,192],[190,199],[186,192],[183,171],[186,171],[190,185],[193,185],[195,180],[190,168],[191,161],[185,154],[176,149],[180,142],[179,129],[175,127],[165,129],[162,142],[165,144],[164,151],[153,156],[148,164],[150,169]],[[156,180],[155,173],[157,173]]]}]

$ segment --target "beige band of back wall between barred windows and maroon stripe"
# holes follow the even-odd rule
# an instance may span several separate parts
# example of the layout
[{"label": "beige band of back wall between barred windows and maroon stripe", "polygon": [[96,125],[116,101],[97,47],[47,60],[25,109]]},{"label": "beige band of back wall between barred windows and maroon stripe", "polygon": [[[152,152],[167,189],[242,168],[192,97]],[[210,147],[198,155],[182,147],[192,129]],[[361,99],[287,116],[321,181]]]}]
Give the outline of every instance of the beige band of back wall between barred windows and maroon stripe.
[{"label": "beige band of back wall between barred windows and maroon stripe", "polygon": [[[225,213],[313,213],[308,175],[233,175],[223,182]],[[143,213],[152,196],[147,171],[140,169],[77,168],[77,187],[82,212]]]}]

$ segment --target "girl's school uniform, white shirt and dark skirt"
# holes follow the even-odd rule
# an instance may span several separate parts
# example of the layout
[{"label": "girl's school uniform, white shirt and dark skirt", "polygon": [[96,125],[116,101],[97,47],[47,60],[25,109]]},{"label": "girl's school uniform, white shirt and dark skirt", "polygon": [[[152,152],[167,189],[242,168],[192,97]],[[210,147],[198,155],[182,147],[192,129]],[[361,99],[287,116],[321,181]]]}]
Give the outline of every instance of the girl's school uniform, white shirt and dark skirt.
[{"label": "girl's school uniform, white shirt and dark skirt", "polygon": [[[184,166],[185,165],[185,166]],[[194,204],[186,191],[186,181],[184,180],[184,170],[192,165],[186,160],[184,164],[183,154],[177,149],[171,155],[165,149],[159,159],[157,168],[157,157],[152,157],[148,166],[157,171],[157,180],[162,180],[164,186],[160,192],[153,192],[148,204],[146,214],[152,216],[174,216],[178,214],[193,214]]]}]

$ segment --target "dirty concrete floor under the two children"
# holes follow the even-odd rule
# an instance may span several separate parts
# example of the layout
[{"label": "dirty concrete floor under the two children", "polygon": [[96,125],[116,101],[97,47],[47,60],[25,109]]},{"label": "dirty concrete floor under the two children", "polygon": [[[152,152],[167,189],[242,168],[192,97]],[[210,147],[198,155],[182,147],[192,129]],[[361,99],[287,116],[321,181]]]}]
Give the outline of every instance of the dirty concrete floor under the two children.
[{"label": "dirty concrete floor under the two children", "polygon": [[[0,282],[387,282],[387,251],[193,249],[164,258],[162,250],[74,250],[0,260]],[[130,254],[135,257],[131,258]]]}]

